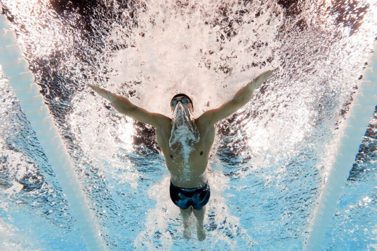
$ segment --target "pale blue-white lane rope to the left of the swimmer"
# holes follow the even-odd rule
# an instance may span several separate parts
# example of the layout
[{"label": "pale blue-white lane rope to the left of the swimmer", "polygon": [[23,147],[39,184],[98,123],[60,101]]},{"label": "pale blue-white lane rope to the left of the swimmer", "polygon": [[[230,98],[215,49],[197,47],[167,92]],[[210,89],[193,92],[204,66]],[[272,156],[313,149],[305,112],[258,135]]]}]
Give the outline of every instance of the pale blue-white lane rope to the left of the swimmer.
[{"label": "pale blue-white lane rope to the left of the swimmer", "polygon": [[28,69],[28,62],[23,56],[15,33],[10,29],[4,15],[0,15],[0,64],[54,170],[87,248],[104,251],[105,246],[100,237],[98,223],[88,207],[81,185],[72,169],[70,156],[57,133],[40,89],[34,82],[34,76]]}]

